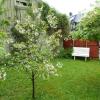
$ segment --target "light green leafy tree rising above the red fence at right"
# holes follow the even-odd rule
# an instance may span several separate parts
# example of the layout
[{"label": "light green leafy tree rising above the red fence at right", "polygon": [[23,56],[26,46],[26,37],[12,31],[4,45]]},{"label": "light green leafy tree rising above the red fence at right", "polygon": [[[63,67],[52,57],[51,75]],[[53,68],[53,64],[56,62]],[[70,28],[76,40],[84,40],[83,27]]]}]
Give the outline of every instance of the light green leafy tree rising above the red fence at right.
[{"label": "light green leafy tree rising above the red fence at right", "polygon": [[100,7],[96,6],[81,20],[78,31],[72,34],[76,39],[100,40]]}]

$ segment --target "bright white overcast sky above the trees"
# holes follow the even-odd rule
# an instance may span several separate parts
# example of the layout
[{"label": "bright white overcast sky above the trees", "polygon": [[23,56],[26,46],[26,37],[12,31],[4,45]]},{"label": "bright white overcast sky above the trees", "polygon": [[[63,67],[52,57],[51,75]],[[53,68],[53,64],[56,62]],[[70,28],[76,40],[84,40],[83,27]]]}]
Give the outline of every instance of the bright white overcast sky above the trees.
[{"label": "bright white overcast sky above the trees", "polygon": [[95,0],[43,0],[57,11],[69,14],[77,14],[80,11],[90,10],[90,5],[95,3]]}]

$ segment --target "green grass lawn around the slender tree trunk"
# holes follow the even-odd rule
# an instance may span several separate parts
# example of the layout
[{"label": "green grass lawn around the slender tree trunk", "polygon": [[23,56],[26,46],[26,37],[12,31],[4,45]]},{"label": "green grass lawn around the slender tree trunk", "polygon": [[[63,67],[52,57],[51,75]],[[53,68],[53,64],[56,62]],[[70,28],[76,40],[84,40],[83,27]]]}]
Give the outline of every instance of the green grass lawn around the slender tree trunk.
[{"label": "green grass lawn around the slender tree trunk", "polygon": [[[100,100],[100,61],[58,59],[58,77],[36,80],[36,100]],[[15,68],[0,81],[0,100],[31,100],[31,81]]]}]

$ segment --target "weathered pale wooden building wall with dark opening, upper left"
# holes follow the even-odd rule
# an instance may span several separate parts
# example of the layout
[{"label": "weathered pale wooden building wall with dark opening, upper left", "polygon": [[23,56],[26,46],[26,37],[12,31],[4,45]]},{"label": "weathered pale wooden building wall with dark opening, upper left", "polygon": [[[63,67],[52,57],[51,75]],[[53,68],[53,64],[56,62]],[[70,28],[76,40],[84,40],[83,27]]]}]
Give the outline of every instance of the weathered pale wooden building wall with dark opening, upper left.
[{"label": "weathered pale wooden building wall with dark opening, upper left", "polygon": [[[3,8],[5,9],[5,13],[3,13],[0,16],[0,19],[9,19],[9,20],[22,20],[23,17],[26,16],[26,9],[27,6],[26,3],[29,0],[6,0]],[[32,3],[34,0],[30,0]]]}]

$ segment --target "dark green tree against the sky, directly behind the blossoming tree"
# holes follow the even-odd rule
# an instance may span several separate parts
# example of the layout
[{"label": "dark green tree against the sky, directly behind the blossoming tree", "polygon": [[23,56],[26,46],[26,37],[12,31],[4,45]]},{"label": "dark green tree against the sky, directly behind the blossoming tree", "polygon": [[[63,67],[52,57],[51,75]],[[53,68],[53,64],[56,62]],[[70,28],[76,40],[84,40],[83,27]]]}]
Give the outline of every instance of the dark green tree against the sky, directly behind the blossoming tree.
[{"label": "dark green tree against the sky, directly behind the blossoming tree", "polygon": [[[55,9],[50,8],[48,4],[42,2],[42,13],[41,18],[48,26],[47,33],[51,35],[54,32],[60,30],[62,35],[61,41],[64,37],[67,37],[70,31],[69,19],[66,15],[58,13]],[[51,18],[56,21],[56,25],[52,23]]]}]

